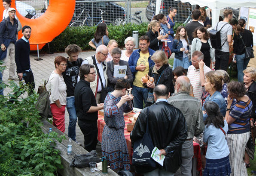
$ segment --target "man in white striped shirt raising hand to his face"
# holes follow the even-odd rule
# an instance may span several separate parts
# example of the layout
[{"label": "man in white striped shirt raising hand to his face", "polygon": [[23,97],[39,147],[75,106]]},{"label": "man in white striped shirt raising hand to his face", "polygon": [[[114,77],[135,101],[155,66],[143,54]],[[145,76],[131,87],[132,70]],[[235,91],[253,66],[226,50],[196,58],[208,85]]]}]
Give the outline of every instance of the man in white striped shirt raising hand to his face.
[{"label": "man in white striped shirt raising hand to his face", "polygon": [[195,51],[192,54],[192,65],[188,68],[187,76],[193,86],[193,94],[195,98],[201,100],[204,91],[205,73],[211,71],[204,62],[204,54],[201,51]]}]

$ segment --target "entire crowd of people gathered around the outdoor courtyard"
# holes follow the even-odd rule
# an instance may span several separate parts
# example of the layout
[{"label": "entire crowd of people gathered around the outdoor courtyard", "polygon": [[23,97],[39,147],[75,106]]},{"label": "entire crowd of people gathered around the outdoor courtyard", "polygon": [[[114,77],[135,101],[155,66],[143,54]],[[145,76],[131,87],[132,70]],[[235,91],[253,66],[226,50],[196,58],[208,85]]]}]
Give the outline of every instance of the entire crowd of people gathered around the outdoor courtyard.
[{"label": "entire crowd of people gathered around the outdoor courtyard", "polygon": [[[17,41],[15,9],[8,8],[8,13],[7,20],[0,23],[0,57],[6,63],[8,50],[15,46],[18,79],[30,85],[31,93],[34,89],[29,60],[31,28],[24,26],[23,37]],[[76,141],[78,121],[85,150],[90,152],[99,143],[98,111],[103,109],[106,126],[102,155],[107,156],[113,170],[131,170],[123,113],[132,111],[133,107],[144,108],[134,124],[131,142],[143,138],[148,126],[152,143],[160,150],[159,155],[165,155],[165,161],[163,166],[135,165],[137,172],[145,176],[172,176],[180,168],[182,175],[191,175],[193,141],[196,141],[204,149],[201,156],[204,176],[246,176],[246,167],[254,159],[254,147],[247,147],[247,142],[250,136],[254,140],[256,134],[256,68],[247,67],[250,58],[246,58],[244,50],[244,45],[253,45],[252,33],[244,29],[243,19],[238,20],[233,32],[229,24],[232,10],[226,9],[223,21],[214,26],[220,30],[222,48],[214,50],[206,29],[211,21],[207,13],[205,8],[194,9],[193,20],[185,27],[179,26],[175,37],[177,9],[169,8],[167,17],[155,15],[148,32],[140,36],[137,50],[132,37],[125,39],[125,50],[118,48],[118,41],[108,38],[105,23],[97,26],[89,42],[96,49],[93,56],[79,58],[81,48],[76,44],[67,46],[67,57],[55,58],[55,70],[49,76],[53,125],[65,132],[67,108],[68,136]],[[203,24],[198,22],[201,17]],[[230,82],[226,72],[232,36],[238,82]],[[175,53],[173,69],[161,50],[163,38],[172,40],[168,46]],[[119,66],[125,67],[125,76],[116,76],[115,69]],[[14,75],[9,73],[10,78]],[[145,76],[154,81],[143,82]],[[129,88],[131,94],[126,94]]]}]

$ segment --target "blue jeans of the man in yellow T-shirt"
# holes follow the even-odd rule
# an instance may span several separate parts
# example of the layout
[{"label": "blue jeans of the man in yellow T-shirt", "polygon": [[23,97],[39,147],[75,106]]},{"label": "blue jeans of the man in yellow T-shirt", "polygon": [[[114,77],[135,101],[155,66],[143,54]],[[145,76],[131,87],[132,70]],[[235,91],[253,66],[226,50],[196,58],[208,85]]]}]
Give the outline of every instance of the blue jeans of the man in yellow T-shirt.
[{"label": "blue jeans of the man in yellow T-shirt", "polygon": [[140,88],[135,85],[132,86],[132,95],[134,108],[143,109],[143,100],[144,104],[146,104],[146,99],[148,98],[148,89],[147,88]]}]

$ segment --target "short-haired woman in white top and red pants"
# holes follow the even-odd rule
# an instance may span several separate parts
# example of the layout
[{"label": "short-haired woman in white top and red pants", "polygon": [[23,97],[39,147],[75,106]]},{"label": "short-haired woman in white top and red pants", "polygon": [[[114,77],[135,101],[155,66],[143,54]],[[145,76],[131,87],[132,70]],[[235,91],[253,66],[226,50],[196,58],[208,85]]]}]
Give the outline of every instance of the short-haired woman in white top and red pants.
[{"label": "short-haired woman in white top and red pants", "polygon": [[64,82],[62,72],[66,70],[67,59],[63,56],[57,56],[54,61],[55,70],[49,77],[50,83],[50,105],[52,111],[52,123],[61,132],[65,132],[65,108],[66,108],[66,84]]}]

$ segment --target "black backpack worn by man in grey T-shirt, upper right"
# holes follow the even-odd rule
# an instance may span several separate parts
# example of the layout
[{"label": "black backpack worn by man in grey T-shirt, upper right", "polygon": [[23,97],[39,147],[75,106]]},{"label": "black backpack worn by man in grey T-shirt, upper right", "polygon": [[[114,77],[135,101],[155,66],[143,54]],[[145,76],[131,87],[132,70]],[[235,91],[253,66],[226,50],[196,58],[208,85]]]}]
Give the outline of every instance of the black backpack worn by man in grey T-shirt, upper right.
[{"label": "black backpack worn by man in grey T-shirt, upper right", "polygon": [[222,46],[225,44],[225,42],[228,40],[228,38],[226,38],[226,40],[224,41],[223,44],[221,44],[221,38],[220,38],[220,31],[221,29],[226,26],[226,24],[228,23],[225,23],[221,28],[220,30],[218,31],[218,24],[219,22],[217,23],[217,26],[216,26],[216,29],[211,29],[209,31],[209,37],[210,37],[210,43],[212,44],[212,47],[215,48],[216,50],[221,50]]}]

